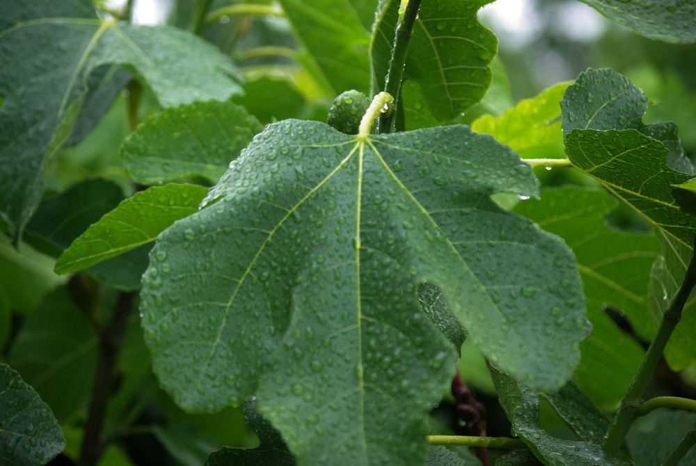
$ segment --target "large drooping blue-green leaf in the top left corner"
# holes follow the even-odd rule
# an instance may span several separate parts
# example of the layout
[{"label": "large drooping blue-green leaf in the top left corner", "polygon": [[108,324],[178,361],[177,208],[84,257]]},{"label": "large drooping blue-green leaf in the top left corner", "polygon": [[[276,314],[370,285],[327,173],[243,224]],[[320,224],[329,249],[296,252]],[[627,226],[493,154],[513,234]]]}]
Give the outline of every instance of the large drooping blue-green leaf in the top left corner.
[{"label": "large drooping blue-green leaf in the top left corner", "polygon": [[0,8],[0,213],[15,242],[95,70],[125,65],[164,106],[241,92],[229,59],[184,31],[100,20],[86,1],[3,0]]}]

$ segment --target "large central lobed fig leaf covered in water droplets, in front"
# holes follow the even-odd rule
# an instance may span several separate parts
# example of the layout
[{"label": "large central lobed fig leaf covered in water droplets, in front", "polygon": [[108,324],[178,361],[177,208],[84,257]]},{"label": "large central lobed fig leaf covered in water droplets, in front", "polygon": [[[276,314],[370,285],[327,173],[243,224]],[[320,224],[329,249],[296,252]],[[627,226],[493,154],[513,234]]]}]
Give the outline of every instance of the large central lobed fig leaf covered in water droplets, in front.
[{"label": "large central lobed fig leaf covered in water droplets, in front", "polygon": [[537,180],[462,125],[267,126],[152,250],[141,311],[155,373],[187,410],[255,393],[300,464],[425,459],[456,354],[420,307],[429,281],[496,366],[557,389],[585,334],[574,257],[498,191],[537,196]]}]

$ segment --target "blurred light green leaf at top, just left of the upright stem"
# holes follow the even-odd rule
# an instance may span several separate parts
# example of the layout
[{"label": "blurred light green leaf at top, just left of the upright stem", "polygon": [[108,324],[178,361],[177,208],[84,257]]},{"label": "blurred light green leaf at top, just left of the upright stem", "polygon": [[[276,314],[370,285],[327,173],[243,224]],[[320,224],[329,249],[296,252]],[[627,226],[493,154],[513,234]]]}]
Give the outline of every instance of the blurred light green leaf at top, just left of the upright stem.
[{"label": "blurred light green leaf at top, just left of the upright stem", "polygon": [[280,0],[300,42],[322,70],[333,93],[367,92],[370,34],[349,0]]}]

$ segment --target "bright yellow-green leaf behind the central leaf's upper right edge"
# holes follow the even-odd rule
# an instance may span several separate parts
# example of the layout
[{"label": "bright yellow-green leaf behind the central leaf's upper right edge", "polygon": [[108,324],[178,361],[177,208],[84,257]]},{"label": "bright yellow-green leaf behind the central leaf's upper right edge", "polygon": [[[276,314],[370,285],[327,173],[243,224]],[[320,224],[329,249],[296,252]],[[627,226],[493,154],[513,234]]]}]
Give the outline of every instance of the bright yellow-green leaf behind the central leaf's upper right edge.
[{"label": "bright yellow-green leaf behind the central leaf's upper right edge", "polygon": [[484,115],[471,123],[471,129],[491,134],[518,152],[561,141],[559,102],[569,84],[556,84],[531,99],[522,100],[498,118]]}]

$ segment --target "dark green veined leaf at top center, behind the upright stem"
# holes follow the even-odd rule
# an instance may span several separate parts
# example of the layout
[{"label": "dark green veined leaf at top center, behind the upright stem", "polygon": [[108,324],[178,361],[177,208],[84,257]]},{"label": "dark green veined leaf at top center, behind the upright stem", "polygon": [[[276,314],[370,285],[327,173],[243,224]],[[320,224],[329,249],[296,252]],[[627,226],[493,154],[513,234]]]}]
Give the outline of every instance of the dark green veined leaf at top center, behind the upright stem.
[{"label": "dark green veined leaf at top center, behind the upright stem", "polygon": [[[452,120],[486,94],[491,61],[498,53],[498,39],[477,20],[477,11],[487,3],[491,0],[422,3],[400,100],[406,129]],[[373,94],[384,88],[399,6],[399,0],[379,5],[370,48]]]}]

